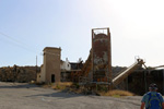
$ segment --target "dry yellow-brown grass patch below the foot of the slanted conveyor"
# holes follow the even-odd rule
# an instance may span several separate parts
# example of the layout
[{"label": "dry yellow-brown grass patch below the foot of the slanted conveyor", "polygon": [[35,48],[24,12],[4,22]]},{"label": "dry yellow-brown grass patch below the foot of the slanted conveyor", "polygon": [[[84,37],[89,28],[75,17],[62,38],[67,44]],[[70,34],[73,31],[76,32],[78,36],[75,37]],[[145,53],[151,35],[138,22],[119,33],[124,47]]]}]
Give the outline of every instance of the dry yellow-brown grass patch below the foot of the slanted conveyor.
[{"label": "dry yellow-brown grass patch below the foot of the slanted conveyor", "polygon": [[121,97],[121,96],[134,96],[134,94],[127,90],[109,90],[107,93],[98,93],[101,96],[113,96],[113,97]]}]

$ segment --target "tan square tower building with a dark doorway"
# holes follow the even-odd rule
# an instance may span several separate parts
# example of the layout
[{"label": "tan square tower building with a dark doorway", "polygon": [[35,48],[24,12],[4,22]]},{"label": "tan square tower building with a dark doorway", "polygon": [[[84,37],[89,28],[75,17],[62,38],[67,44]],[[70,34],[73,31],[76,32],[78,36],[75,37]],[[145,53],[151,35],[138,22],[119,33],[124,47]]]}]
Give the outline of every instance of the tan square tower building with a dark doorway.
[{"label": "tan square tower building with a dark doorway", "polygon": [[40,66],[40,73],[37,74],[38,83],[60,82],[60,56],[61,49],[46,47],[44,50],[44,64]]}]

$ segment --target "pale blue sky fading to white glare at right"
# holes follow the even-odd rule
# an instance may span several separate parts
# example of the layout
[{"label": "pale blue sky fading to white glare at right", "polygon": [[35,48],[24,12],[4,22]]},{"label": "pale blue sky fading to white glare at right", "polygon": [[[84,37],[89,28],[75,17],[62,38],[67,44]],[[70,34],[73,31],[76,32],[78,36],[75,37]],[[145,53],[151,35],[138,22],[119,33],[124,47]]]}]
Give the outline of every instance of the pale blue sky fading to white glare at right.
[{"label": "pale blue sky fading to white glare at right", "polygon": [[0,66],[38,65],[45,47],[86,60],[91,29],[109,27],[113,65],[164,64],[163,0],[0,0]]}]

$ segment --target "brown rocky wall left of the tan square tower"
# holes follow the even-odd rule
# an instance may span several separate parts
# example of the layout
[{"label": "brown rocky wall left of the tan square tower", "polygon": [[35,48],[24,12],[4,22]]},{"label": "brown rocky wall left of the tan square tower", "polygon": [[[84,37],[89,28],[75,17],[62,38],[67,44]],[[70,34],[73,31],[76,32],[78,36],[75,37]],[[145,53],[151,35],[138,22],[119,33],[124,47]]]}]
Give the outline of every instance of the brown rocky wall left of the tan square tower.
[{"label": "brown rocky wall left of the tan square tower", "polygon": [[37,72],[39,72],[39,68],[36,69],[36,66],[13,65],[0,68],[0,81],[27,83],[31,81],[36,81]]}]

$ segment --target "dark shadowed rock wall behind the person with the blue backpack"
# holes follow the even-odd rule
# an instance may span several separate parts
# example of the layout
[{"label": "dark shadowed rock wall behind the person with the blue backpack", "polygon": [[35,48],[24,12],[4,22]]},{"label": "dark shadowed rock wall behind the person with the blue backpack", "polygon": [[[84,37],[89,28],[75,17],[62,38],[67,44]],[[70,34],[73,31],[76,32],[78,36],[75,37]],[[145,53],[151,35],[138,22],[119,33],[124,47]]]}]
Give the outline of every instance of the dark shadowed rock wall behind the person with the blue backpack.
[{"label": "dark shadowed rock wall behind the person with the blue backpack", "polygon": [[155,83],[157,92],[164,95],[164,72],[163,70],[138,70],[131,73],[116,88],[132,92],[137,95],[143,95],[149,92],[149,85]]}]

